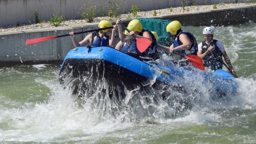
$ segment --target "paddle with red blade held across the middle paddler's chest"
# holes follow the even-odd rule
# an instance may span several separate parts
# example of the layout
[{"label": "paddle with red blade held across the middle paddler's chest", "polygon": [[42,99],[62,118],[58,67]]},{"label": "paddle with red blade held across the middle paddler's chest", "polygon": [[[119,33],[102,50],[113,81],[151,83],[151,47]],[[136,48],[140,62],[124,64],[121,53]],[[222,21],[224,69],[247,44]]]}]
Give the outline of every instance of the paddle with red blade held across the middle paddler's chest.
[{"label": "paddle with red blade held across the middle paddler's chest", "polygon": [[[127,32],[130,32],[130,30],[127,29],[121,22],[120,24],[124,29],[126,29]],[[152,43],[149,39],[137,38],[135,37],[134,34],[132,36],[134,37],[134,39],[136,39],[136,45],[140,53],[143,53],[148,48],[148,46],[150,46],[150,44]]]}]

